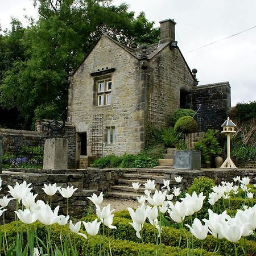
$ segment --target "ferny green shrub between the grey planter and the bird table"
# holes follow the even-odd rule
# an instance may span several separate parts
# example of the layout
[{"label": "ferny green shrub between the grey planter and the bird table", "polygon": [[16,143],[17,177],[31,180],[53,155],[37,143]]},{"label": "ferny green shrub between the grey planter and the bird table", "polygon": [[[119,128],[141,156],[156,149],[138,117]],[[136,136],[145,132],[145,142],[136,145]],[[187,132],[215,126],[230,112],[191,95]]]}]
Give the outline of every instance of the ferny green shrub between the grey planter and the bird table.
[{"label": "ferny green shrub between the grey planter and the bird table", "polygon": [[195,150],[201,151],[201,164],[203,166],[210,163],[210,158],[214,155],[221,154],[221,147],[217,141],[218,130],[208,130],[205,133],[205,138],[195,143]]}]

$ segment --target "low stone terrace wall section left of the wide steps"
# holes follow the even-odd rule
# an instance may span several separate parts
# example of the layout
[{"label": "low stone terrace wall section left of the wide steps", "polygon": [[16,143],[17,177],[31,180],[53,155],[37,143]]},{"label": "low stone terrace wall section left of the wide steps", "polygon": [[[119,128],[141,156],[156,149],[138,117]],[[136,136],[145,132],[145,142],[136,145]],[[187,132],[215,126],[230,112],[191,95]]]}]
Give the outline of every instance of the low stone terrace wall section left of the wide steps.
[{"label": "low stone terrace wall section left of the wide steps", "polygon": [[[74,218],[81,218],[86,212],[86,207],[90,204],[87,196],[92,193],[106,191],[110,185],[115,183],[119,170],[37,170],[37,169],[8,169],[3,170],[0,175],[3,180],[0,198],[9,195],[7,185],[12,187],[16,182],[32,183],[32,192],[38,193],[36,200],[49,201],[48,196],[44,193],[45,184],[57,183],[58,186],[67,187],[73,185],[78,188],[73,196],[69,199],[69,214]],[[67,212],[67,199],[64,199],[59,192],[52,197],[52,208],[60,205],[59,214]],[[14,219],[15,200],[11,201],[7,207],[7,221]]]}]

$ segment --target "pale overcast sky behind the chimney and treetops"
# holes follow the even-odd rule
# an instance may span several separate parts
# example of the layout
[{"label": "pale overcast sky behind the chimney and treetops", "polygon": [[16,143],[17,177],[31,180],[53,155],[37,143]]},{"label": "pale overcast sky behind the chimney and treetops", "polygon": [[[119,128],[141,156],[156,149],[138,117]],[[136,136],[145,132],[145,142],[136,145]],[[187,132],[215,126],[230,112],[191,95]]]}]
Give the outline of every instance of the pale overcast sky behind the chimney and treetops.
[{"label": "pale overcast sky behind the chimney and treetops", "polygon": [[[199,85],[229,81],[232,106],[256,100],[255,0],[114,0],[126,2],[138,15],[144,11],[150,21],[172,18],[176,40],[191,69],[197,69]],[[10,27],[10,16],[24,22],[23,16],[36,16],[32,0],[0,0],[0,24]],[[24,10],[26,9],[26,11]],[[26,24],[26,23],[24,23]],[[210,46],[197,49],[221,40]],[[192,52],[189,52],[192,51]]]}]

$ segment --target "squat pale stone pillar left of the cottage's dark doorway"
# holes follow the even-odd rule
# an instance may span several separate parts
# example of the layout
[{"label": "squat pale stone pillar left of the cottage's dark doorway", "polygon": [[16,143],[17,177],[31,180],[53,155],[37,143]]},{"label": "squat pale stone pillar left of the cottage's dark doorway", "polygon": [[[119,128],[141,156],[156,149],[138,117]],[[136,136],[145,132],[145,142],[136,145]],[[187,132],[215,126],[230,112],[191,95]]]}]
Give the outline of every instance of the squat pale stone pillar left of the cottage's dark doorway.
[{"label": "squat pale stone pillar left of the cottage's dark doorway", "polygon": [[47,139],[44,144],[44,169],[68,168],[68,141],[63,138]]}]

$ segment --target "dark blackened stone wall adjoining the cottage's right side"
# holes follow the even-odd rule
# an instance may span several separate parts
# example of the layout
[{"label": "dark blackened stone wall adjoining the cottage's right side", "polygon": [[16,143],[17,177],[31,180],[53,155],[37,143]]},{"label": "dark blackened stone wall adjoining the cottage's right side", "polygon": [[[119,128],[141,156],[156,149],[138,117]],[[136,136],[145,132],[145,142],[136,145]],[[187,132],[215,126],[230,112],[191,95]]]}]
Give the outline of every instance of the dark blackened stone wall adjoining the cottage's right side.
[{"label": "dark blackened stone wall adjoining the cottage's right side", "polygon": [[193,110],[198,110],[200,131],[221,129],[231,106],[229,82],[197,86],[192,92]]}]

